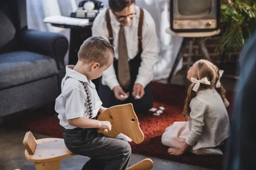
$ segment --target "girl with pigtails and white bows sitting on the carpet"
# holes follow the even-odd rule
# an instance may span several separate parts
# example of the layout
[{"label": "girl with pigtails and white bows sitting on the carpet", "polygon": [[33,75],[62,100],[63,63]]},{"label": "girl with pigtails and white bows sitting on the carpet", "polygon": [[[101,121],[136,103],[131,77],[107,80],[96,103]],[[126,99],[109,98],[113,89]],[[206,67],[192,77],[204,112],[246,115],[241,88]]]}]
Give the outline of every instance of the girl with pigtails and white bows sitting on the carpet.
[{"label": "girl with pigtails and white bows sitting on the carpet", "polygon": [[220,83],[222,70],[201,59],[189,69],[189,86],[183,116],[187,122],[174,122],[167,127],[162,143],[171,155],[186,150],[198,155],[223,154],[218,146],[229,136],[230,122],[225,107],[229,105]]}]

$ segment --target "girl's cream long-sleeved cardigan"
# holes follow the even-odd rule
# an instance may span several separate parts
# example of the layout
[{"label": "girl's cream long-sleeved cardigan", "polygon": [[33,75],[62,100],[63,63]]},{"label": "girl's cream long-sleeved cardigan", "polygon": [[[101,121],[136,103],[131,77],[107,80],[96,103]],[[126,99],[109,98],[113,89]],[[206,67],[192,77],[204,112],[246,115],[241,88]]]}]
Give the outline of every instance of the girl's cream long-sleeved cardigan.
[{"label": "girl's cream long-sleeved cardigan", "polygon": [[192,145],[193,150],[218,146],[229,136],[228,105],[227,99],[224,103],[214,88],[198,91],[189,105],[190,133],[186,138],[186,143]]}]

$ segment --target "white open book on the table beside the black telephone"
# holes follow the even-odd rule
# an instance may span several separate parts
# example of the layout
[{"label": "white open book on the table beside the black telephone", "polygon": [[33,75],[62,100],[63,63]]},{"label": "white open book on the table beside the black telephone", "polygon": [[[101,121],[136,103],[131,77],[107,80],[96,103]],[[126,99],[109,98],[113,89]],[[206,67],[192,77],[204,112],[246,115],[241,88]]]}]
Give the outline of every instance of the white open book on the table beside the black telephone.
[{"label": "white open book on the table beside the black telephone", "polygon": [[72,17],[64,17],[61,15],[55,15],[55,16],[44,18],[44,23],[64,24],[64,25],[71,25],[71,26],[85,26],[87,23],[89,23],[89,19],[72,18]]}]

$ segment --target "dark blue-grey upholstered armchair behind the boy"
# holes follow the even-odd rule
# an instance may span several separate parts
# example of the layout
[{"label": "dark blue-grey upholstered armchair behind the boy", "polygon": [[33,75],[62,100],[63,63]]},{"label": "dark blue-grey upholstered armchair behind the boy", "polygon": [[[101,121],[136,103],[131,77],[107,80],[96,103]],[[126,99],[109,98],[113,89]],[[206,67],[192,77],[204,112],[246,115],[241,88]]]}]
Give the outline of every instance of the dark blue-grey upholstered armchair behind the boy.
[{"label": "dark blue-grey upholstered armchair behind the boy", "polygon": [[68,41],[29,30],[26,0],[0,0],[0,117],[54,102]]}]

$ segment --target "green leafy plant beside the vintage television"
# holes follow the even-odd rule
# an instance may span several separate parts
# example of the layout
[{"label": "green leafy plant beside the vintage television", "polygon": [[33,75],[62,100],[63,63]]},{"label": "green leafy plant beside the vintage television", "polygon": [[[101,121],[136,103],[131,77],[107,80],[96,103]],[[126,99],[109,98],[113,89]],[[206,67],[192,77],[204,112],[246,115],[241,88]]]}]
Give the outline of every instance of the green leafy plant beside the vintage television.
[{"label": "green leafy plant beside the vintage television", "polygon": [[223,34],[217,53],[241,51],[256,28],[256,0],[229,0],[221,4],[221,27]]}]

